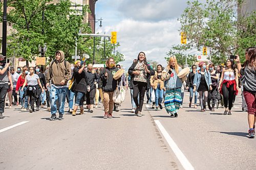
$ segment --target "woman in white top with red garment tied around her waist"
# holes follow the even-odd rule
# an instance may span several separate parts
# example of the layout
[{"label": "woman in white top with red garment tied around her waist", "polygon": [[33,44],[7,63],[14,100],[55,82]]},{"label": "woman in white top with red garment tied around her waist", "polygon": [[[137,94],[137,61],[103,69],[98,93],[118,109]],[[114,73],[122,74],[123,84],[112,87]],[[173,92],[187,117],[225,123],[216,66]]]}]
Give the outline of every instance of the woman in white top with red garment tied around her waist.
[{"label": "woman in white top with red garment tied around her waist", "polygon": [[231,115],[234,94],[238,94],[238,70],[234,67],[234,61],[227,59],[226,67],[222,69],[219,83],[220,93],[223,95],[224,115]]}]

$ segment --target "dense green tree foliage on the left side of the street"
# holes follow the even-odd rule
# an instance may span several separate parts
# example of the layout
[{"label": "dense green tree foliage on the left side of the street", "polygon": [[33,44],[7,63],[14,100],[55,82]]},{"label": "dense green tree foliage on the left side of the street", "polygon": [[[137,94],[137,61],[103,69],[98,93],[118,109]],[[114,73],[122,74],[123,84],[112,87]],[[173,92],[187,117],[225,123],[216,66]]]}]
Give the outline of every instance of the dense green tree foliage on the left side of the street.
[{"label": "dense green tree foliage on the left side of the street", "polygon": [[[82,15],[70,15],[74,12],[70,9],[70,1],[61,0],[53,4],[52,0],[17,0],[8,1],[8,7],[12,9],[8,13],[8,21],[12,23],[13,31],[8,36],[7,56],[32,61],[40,55],[38,47],[46,44],[45,56],[48,61],[55,57],[56,50],[62,50],[66,59],[71,61],[72,56],[75,55],[77,38],[78,56],[88,53],[92,58],[93,38],[78,35],[79,32],[92,33],[92,30],[87,23],[83,22]],[[90,10],[87,5],[84,5],[83,14],[86,12]],[[96,38],[95,45],[98,46],[100,43],[100,38]],[[114,46],[111,46],[109,41],[106,41],[106,46],[109,51],[113,51]],[[119,43],[115,45],[116,48],[118,46]],[[106,56],[112,56],[111,52]],[[98,57],[101,55],[95,55],[97,62],[100,61]],[[123,60],[120,53],[115,57],[117,60]]]}]

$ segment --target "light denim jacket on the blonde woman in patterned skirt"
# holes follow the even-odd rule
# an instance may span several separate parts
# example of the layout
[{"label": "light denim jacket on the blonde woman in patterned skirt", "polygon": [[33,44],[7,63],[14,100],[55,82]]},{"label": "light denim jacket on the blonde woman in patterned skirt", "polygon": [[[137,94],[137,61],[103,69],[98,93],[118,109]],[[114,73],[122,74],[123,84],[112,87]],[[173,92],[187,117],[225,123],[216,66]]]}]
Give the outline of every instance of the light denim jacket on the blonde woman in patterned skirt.
[{"label": "light denim jacket on the blonde woman in patterned skirt", "polygon": [[[179,71],[181,71],[181,67],[179,67]],[[182,81],[181,79],[178,77],[178,74],[176,74],[175,69],[173,69],[173,77],[170,77],[170,74],[168,74],[167,68],[165,68],[165,71],[167,72],[167,80],[164,82],[164,86],[166,87],[166,90],[169,89],[175,89],[175,88],[181,88],[182,87]]]}]

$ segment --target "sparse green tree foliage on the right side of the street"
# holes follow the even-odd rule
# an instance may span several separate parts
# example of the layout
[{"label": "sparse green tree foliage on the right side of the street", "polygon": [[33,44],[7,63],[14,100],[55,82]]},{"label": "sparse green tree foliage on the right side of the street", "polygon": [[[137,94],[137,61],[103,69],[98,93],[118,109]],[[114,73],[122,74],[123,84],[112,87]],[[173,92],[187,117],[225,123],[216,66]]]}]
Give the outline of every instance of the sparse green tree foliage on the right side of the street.
[{"label": "sparse green tree foliage on the right side of the street", "polygon": [[[238,21],[237,8],[243,1],[207,0],[187,2],[188,7],[178,18],[180,32],[185,32],[187,49],[208,48],[216,64],[224,63],[229,55],[238,53],[244,60],[244,49],[255,45],[255,12]],[[174,45],[176,47],[176,45]],[[171,54],[175,51],[172,48]],[[243,53],[242,53],[243,52]]]}]

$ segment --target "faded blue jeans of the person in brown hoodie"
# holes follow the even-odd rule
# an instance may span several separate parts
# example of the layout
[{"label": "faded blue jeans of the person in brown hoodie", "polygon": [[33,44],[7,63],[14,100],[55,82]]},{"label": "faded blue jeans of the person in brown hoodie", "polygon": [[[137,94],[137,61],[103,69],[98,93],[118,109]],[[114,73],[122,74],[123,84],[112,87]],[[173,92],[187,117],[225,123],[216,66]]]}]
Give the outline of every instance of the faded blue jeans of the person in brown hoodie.
[{"label": "faded blue jeans of the person in brown hoodie", "polygon": [[51,100],[51,113],[56,114],[57,104],[59,102],[59,114],[64,114],[65,98],[66,98],[67,87],[56,88],[51,86],[50,100]]}]

